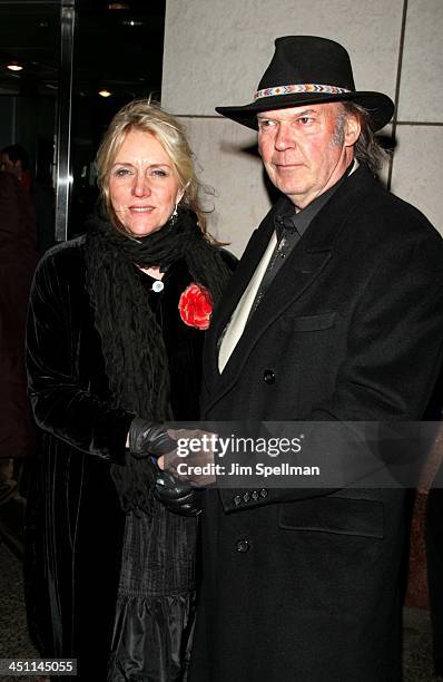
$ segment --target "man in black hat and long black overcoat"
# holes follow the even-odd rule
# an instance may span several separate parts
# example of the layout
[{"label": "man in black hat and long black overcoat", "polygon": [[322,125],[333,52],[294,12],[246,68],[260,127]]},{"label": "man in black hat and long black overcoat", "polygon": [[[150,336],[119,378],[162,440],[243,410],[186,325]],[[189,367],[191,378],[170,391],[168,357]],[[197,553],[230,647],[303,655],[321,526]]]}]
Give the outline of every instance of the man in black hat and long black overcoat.
[{"label": "man in black hat and long black overcoat", "polygon": [[[276,40],[253,104],[282,197],[209,330],[203,419],[417,420],[441,363],[440,235],[383,189],[373,130],[393,103],[355,90],[346,50]],[[191,682],[400,680],[403,494],[207,490]]]}]

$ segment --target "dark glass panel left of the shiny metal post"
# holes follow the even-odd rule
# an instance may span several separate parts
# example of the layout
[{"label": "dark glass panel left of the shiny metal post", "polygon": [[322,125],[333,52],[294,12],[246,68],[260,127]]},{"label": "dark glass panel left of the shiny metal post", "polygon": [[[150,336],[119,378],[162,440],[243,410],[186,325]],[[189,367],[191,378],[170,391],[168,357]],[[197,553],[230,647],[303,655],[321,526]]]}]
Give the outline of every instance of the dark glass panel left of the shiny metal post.
[{"label": "dark glass panel left of the shiny metal post", "polygon": [[0,0],[0,150],[24,157],[43,253],[56,241],[60,1]]}]

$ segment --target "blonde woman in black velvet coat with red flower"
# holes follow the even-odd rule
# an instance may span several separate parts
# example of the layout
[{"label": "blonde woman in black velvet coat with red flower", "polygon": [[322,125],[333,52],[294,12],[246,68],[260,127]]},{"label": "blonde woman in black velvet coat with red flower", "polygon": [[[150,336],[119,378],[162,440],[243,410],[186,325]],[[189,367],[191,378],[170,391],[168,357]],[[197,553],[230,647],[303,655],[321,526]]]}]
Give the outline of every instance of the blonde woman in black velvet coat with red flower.
[{"label": "blonde woman in black velvet coat with red flower", "polygon": [[31,293],[30,622],[43,655],[77,657],[82,680],[184,680],[197,510],[193,495],[188,516],[154,498],[151,456],[171,449],[158,422],[198,418],[203,331],[229,269],[171,116],[126,106],[97,168],[101,212],[46,255]]}]

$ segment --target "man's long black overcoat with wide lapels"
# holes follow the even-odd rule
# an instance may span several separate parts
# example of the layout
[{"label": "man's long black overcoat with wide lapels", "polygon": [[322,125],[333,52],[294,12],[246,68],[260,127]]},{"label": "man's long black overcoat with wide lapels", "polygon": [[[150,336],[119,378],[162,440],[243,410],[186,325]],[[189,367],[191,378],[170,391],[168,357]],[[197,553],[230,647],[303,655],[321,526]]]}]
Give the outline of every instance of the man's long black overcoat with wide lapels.
[{"label": "man's long black overcoat with wide lapels", "polygon": [[[443,242],[364,166],[313,220],[219,374],[217,341],[285,202],[213,322],[204,418],[420,419],[441,364]],[[398,680],[403,493],[243,493],[205,494],[191,682]]]}]

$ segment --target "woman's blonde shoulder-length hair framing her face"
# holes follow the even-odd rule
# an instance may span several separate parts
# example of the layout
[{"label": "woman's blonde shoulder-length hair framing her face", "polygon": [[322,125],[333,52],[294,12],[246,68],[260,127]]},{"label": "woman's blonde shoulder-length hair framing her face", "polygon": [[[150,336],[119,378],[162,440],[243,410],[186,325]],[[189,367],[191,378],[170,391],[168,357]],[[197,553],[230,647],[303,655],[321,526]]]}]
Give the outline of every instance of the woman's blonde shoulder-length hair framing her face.
[{"label": "woman's blonde shoulder-length hair framing her face", "polygon": [[150,133],[169,156],[174,172],[184,192],[180,205],[194,211],[200,230],[206,234],[206,217],[198,201],[199,182],[194,170],[194,154],[183,126],[160,105],[150,99],[135,99],[112,118],[97,152],[97,183],[105,207],[114,225],[125,231],[112,208],[109,193],[109,175],[119,148],[130,130]]}]

